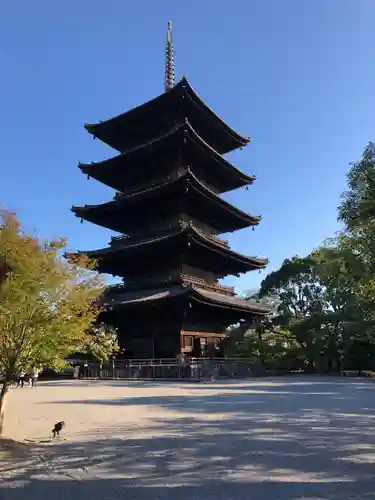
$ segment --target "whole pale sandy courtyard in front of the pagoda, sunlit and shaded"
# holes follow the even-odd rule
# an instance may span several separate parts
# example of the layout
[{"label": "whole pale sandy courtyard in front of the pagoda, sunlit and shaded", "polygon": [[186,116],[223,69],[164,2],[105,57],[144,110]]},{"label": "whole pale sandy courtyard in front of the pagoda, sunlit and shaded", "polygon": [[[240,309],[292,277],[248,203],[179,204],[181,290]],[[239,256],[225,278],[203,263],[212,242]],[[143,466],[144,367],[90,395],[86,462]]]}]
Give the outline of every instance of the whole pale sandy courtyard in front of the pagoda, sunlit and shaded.
[{"label": "whole pale sandy courtyard in front of the pagoda, sunlit and shaded", "polygon": [[44,382],[11,391],[30,444],[0,454],[0,499],[374,499],[374,422],[372,381]]}]

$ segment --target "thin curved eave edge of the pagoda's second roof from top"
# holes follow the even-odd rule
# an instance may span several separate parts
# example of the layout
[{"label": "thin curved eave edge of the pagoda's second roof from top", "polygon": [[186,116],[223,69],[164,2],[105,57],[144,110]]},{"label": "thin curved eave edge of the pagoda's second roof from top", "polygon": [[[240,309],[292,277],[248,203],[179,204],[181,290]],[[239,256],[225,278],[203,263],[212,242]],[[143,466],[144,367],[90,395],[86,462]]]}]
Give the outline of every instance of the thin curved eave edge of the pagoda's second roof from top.
[{"label": "thin curved eave edge of the pagoda's second roof from top", "polygon": [[[235,187],[246,186],[248,184],[252,184],[255,181],[255,176],[249,176],[245,174],[237,167],[235,167],[232,163],[230,163],[228,160],[226,160],[222,155],[220,155],[214,148],[212,148],[194,130],[194,128],[192,127],[192,125],[189,123],[188,120],[186,120],[183,124],[173,127],[166,134],[163,134],[153,139],[152,141],[149,141],[146,144],[143,144],[136,148],[130,148],[121,153],[120,155],[114,156],[107,160],[103,160],[101,162],[79,163],[78,167],[86,175],[89,175],[90,177],[93,177],[94,179],[97,179],[100,182],[104,182],[105,184],[110,185],[110,183],[108,183],[107,176],[105,175],[106,170],[113,171],[118,168],[126,168],[126,164],[127,163],[130,164],[132,161],[134,161],[134,159],[137,156],[143,157],[146,152],[151,153],[153,150],[157,148],[162,148],[168,142],[168,140],[172,139],[173,136],[181,132],[186,132],[187,136],[195,144],[196,147],[202,149],[204,154],[211,156],[211,158],[214,161],[216,161],[219,165],[225,168],[228,177],[234,180],[234,182],[232,183],[231,187],[228,188],[228,190],[234,189]],[[110,185],[110,187],[114,187],[114,189],[117,189],[116,186]]]}]

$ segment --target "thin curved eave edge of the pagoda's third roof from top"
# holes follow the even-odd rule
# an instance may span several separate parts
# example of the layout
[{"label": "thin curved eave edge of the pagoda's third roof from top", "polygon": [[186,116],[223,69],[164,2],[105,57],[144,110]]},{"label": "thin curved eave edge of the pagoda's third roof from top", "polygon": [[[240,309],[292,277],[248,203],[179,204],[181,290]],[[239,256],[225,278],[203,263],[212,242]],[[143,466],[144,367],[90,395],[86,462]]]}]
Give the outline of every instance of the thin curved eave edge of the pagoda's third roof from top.
[{"label": "thin curved eave edge of the pagoda's third roof from top", "polygon": [[141,199],[140,197],[145,197],[145,196],[150,196],[154,197],[155,195],[158,195],[163,192],[163,190],[166,190],[168,188],[173,188],[173,186],[178,186],[178,184],[182,184],[183,182],[188,182],[189,185],[195,189],[195,191],[201,195],[206,197],[207,199],[213,201],[216,205],[220,205],[224,210],[227,212],[231,213],[235,218],[238,220],[242,221],[242,227],[248,227],[248,226],[257,226],[259,222],[261,221],[260,216],[254,216],[254,215],[249,215],[246,212],[243,212],[239,208],[231,205],[227,201],[223,200],[219,196],[217,196],[213,191],[205,187],[196,177],[195,175],[188,170],[188,172],[181,176],[177,180],[171,180],[168,182],[165,182],[163,184],[158,184],[157,186],[152,186],[147,189],[143,189],[141,191],[136,191],[134,193],[130,194],[124,194],[121,197],[119,197],[117,200],[112,200],[108,201],[99,205],[86,205],[84,207],[76,207],[73,206],[71,208],[71,211],[77,216],[82,219],[89,220],[91,222],[94,222],[92,220],[92,216],[89,217],[89,214],[94,214],[95,218],[95,212],[105,212],[107,210],[111,210],[113,208],[121,207],[121,205],[126,204],[130,200],[134,199]]}]

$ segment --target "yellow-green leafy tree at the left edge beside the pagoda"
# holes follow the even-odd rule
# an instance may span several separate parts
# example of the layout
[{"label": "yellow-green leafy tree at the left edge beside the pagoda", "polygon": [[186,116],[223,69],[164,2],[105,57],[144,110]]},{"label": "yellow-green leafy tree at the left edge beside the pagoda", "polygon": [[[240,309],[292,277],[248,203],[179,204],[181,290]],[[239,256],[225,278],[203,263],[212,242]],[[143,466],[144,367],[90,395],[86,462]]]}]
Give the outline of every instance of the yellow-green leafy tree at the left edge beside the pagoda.
[{"label": "yellow-green leafy tree at the left edge beside the pagoda", "polygon": [[105,286],[85,256],[62,258],[66,240],[26,234],[14,214],[0,213],[0,434],[6,394],[21,371],[59,368],[87,344]]}]

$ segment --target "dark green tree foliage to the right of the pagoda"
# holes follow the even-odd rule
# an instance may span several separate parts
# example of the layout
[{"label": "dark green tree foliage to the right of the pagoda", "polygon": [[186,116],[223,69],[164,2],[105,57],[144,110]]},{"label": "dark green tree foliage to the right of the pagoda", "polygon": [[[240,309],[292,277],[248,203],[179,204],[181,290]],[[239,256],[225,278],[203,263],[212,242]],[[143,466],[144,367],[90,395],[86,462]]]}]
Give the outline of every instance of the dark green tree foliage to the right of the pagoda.
[{"label": "dark green tree foliage to the right of the pagoda", "polygon": [[241,352],[292,368],[375,368],[375,146],[352,164],[338,217],[344,230],[306,257],[286,259],[259,297],[279,301]]}]

